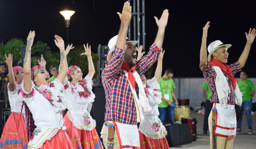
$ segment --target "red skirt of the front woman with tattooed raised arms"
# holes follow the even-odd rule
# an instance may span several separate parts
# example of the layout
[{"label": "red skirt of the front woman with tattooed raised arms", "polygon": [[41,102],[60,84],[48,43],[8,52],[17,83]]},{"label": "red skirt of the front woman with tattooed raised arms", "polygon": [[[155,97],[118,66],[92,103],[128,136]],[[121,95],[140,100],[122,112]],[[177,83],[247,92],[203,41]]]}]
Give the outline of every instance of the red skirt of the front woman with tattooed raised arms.
[{"label": "red skirt of the front woman with tattooed raised arms", "polygon": [[65,132],[59,129],[51,140],[46,140],[41,149],[76,149],[72,140],[68,135],[68,140]]}]

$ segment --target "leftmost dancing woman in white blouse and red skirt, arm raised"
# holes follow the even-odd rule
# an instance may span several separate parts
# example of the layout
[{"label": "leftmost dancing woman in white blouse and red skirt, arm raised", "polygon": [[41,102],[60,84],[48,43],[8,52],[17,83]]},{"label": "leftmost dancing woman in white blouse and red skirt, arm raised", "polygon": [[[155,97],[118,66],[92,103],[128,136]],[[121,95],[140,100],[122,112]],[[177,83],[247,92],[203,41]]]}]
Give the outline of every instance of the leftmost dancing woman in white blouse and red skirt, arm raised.
[{"label": "leftmost dancing woman in white blouse and red skirt, arm raised", "polygon": [[20,66],[12,67],[13,56],[11,54],[6,56],[5,62],[8,65],[9,74],[7,75],[7,88],[4,91],[6,102],[9,101],[12,113],[5,124],[0,139],[0,148],[26,149],[28,147],[28,134],[24,119],[25,109],[22,108],[23,99],[19,93],[23,80],[23,68]]}]

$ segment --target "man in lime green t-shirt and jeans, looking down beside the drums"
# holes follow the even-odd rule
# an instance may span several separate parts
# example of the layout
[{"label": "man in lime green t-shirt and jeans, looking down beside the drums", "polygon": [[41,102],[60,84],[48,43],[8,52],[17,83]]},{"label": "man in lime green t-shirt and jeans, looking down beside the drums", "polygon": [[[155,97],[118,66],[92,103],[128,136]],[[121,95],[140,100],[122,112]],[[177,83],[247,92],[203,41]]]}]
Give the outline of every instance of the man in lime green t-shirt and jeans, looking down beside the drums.
[{"label": "man in lime green t-shirt and jeans, looking down beside the drums", "polygon": [[158,82],[161,88],[160,92],[162,93],[162,102],[158,104],[158,117],[162,123],[165,122],[165,117],[167,117],[166,122],[174,122],[174,103],[178,105],[177,98],[173,92],[175,85],[172,77],[173,69],[168,68],[165,71],[165,75]]}]

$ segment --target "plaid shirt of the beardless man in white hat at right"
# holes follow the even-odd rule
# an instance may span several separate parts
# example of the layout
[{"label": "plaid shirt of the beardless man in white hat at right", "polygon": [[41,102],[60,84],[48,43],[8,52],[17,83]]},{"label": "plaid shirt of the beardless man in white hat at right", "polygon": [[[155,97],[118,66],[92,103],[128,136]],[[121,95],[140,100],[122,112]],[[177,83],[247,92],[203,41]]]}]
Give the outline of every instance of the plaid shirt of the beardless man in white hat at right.
[{"label": "plaid shirt of the beardless man in white hat at right", "polygon": [[[219,103],[219,98],[217,96],[216,85],[215,85],[216,73],[215,73],[213,67],[211,67],[211,65],[209,65],[208,62],[207,62],[207,68],[206,69],[204,69],[201,64],[200,64],[199,67],[200,67],[201,71],[204,74],[204,78],[205,78],[208,86],[211,89],[211,102],[212,103]],[[233,76],[237,72],[241,71],[241,69],[242,69],[239,62],[230,64],[230,65],[228,65],[228,67],[230,67]],[[228,86],[229,86],[229,89],[230,89],[230,94],[228,94],[228,97],[229,97],[228,105],[234,105],[235,104],[234,103],[234,89],[233,89],[232,83],[231,83],[232,80],[230,79],[230,76],[228,76],[228,74],[224,73],[224,76],[226,76],[226,78],[227,78]]]}]

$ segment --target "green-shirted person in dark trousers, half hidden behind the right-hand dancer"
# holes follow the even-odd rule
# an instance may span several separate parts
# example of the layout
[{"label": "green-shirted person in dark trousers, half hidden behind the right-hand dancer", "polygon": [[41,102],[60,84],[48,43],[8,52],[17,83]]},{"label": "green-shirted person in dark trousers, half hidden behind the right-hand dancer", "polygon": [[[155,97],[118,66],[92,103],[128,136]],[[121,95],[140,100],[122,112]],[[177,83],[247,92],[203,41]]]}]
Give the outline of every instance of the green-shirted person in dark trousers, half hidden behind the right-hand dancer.
[{"label": "green-shirted person in dark trousers, half hidden behind the right-hand dancer", "polygon": [[[203,130],[204,130],[204,134],[207,134],[208,131],[208,117],[211,113],[211,108],[213,106],[213,104],[211,103],[211,89],[208,86],[207,82],[204,82],[203,85],[203,96],[204,96],[204,100],[205,100],[205,113],[204,113],[204,125],[203,125]],[[206,96],[206,91],[207,91],[207,96]]]}]

